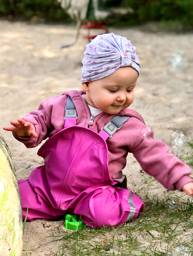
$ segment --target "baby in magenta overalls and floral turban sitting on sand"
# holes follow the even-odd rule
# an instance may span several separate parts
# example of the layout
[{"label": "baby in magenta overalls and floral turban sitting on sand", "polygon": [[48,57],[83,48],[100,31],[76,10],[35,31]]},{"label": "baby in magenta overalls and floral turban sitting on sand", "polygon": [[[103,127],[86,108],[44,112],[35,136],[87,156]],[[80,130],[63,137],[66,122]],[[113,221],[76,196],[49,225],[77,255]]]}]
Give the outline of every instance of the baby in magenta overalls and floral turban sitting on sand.
[{"label": "baby in magenta overalls and floral turban sitting on sand", "polygon": [[23,218],[28,208],[27,220],[70,212],[95,228],[135,219],[143,201],[121,187],[128,153],[165,188],[193,195],[191,169],[161,140],[143,140],[143,118],[128,108],[141,67],[135,50],[125,37],[96,36],[84,52],[82,91],[46,99],[4,128],[27,148],[49,137],[38,151],[45,164],[18,181]]}]

